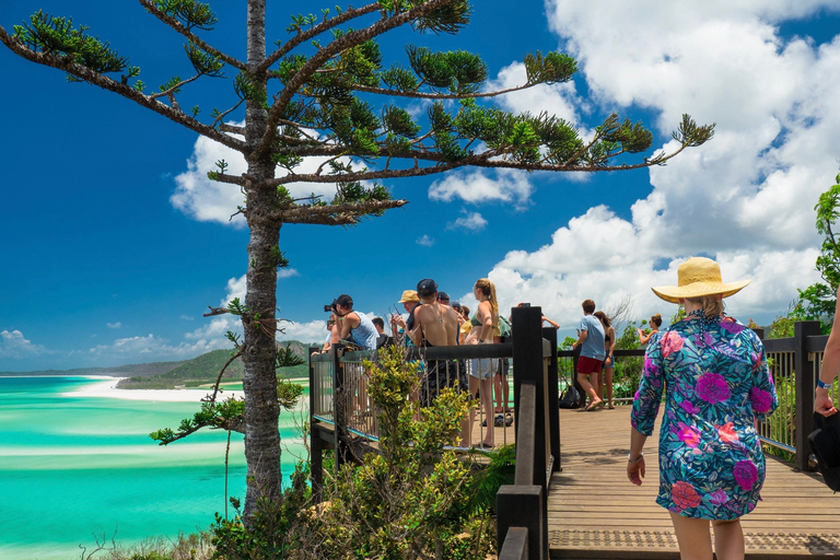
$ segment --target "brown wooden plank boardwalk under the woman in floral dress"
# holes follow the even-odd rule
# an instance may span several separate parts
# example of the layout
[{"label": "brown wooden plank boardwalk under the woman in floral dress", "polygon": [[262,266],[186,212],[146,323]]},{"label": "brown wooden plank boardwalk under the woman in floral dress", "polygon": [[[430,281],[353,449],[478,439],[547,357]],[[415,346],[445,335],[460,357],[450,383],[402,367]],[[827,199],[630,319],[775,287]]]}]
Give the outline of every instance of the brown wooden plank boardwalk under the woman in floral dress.
[{"label": "brown wooden plank boardwalk under the woman in floral dress", "polygon": [[[626,475],[630,407],[560,410],[562,471],[548,495],[551,558],[679,558],[668,512],[655,503],[657,440],[658,427],[645,445],[644,483],[635,487]],[[742,518],[748,559],[840,557],[840,493],[819,475],[768,457],[761,497]]]}]

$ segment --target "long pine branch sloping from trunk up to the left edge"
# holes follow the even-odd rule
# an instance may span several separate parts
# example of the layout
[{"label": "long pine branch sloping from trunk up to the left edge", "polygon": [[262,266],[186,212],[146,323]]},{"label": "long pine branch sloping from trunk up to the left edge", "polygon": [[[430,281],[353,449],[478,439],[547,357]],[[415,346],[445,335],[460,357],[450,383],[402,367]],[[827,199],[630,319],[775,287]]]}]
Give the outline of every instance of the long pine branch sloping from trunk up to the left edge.
[{"label": "long pine branch sloping from trunk up to the left edge", "polygon": [[103,90],[114,92],[118,95],[121,95],[122,97],[131,100],[140,106],[151,109],[159,115],[162,115],[170,120],[177,122],[178,125],[182,125],[185,128],[188,128],[199,135],[215,140],[217,142],[224,144],[232,150],[236,150],[241,153],[247,152],[247,144],[244,141],[238,140],[230,135],[225,135],[224,132],[212,127],[209,127],[188,116],[182,110],[171,107],[165,103],[161,103],[158,100],[152,98],[151,95],[145,95],[142,92],[135,90],[128,84],[112,80],[110,78],[91,70],[83,65],[74,62],[73,57],[32,50],[23,43],[9,35],[2,26],[0,26],[0,43],[5,45],[15,55],[25,58],[31,62],[65,71],[83,82],[91,83]]}]

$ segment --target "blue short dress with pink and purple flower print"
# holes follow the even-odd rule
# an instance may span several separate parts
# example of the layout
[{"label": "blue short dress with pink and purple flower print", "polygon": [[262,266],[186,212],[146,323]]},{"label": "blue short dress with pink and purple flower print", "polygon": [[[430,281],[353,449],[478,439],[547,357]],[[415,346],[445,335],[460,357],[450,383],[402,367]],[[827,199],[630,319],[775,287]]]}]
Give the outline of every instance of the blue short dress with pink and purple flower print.
[{"label": "blue short dress with pink and purple flower print", "polygon": [[660,429],[656,503],[685,517],[731,521],[760,499],[765,456],[756,419],[779,401],[756,334],[732,319],[681,320],[651,340],[631,422]]}]

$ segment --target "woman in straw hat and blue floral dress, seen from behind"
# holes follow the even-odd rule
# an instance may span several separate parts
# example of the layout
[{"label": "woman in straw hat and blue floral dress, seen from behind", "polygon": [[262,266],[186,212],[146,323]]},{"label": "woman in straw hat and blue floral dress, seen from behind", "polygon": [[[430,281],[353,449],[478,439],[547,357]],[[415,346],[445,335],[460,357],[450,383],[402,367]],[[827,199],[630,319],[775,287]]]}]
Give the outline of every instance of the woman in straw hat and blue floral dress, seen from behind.
[{"label": "woman in straw hat and blue floral dress, seen from behind", "polygon": [[759,338],[723,315],[723,298],[749,280],[723,282],[718,264],[702,257],[682,262],[677,276],[679,285],[653,288],[687,317],[645,352],[627,476],[642,483],[642,447],[665,390],[656,503],[670,512],[680,557],[711,560],[711,522],[718,559],[743,559],[740,516],[756,506],[765,480],[756,420],[775,410],[775,388]]}]

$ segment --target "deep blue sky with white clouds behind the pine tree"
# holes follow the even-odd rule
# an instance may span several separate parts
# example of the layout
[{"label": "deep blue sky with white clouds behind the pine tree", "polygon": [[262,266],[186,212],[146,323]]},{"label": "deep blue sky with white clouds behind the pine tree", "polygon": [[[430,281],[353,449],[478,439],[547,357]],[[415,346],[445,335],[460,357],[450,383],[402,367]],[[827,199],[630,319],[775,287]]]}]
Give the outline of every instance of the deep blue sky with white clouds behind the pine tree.
[{"label": "deep blue sky with white clouds behind the pine tree", "polygon": [[[138,2],[4,0],[11,31],[43,9],[69,15],[141,68],[150,88],[189,75],[182,37]],[[243,57],[244,2],[211,2],[209,43]],[[332,5],[335,2],[327,2]],[[269,2],[268,36],[314,1]],[[676,284],[691,256],[714,258],[724,281],[752,279],[727,313],[770,324],[796,290],[819,280],[814,206],[840,171],[840,0],[548,0],[475,2],[457,36],[398,30],[404,45],[482,55],[487,89],[521,83],[528,51],[565,51],[567,84],[497,97],[499,107],[547,110],[584,137],[611,112],[644,121],[652,150],[673,150],[684,113],[715,124],[707,144],[666,166],[605,174],[462,170],[386,186],[410,203],[354,229],[285,225],[291,266],[278,281],[279,339],[322,341],[324,304],[350,294],[372,315],[401,311],[402,290],[433,278],[475,310],[474,282],[490,278],[502,310],[540,305],[573,332],[581,302],[630,305],[630,318],[667,319],[652,285]],[[185,360],[229,348],[232,316],[210,306],[244,296],[248,232],[231,219],[242,195],[206,178],[220,144],[94,86],[0,47],[5,119],[0,174],[0,371]],[[232,73],[231,73],[232,74]],[[182,105],[202,115],[231,103],[231,80],[199,81]],[[420,103],[406,106],[420,113]],[[232,120],[242,115],[233,114]],[[304,165],[313,165],[305,163]],[[295,185],[330,196],[329,186]],[[240,329],[241,330],[241,329]]]}]

